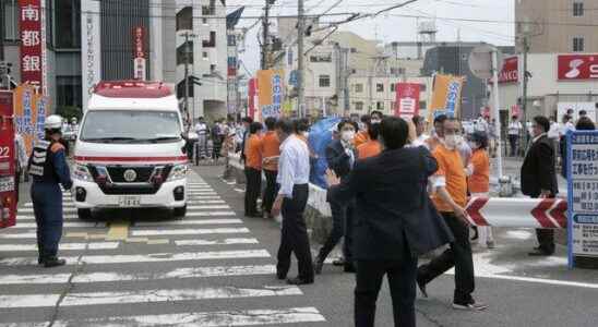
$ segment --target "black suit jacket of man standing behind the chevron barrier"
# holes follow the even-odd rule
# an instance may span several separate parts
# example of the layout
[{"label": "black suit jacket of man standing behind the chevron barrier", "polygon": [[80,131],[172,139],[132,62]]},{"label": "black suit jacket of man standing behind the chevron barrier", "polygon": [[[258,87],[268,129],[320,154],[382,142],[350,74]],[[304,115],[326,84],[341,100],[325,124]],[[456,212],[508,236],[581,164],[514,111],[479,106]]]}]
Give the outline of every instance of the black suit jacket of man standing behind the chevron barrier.
[{"label": "black suit jacket of man standing behind the chevron barrier", "polygon": [[547,135],[531,144],[522,166],[522,193],[538,197],[541,190],[559,193],[554,168],[554,146]]}]

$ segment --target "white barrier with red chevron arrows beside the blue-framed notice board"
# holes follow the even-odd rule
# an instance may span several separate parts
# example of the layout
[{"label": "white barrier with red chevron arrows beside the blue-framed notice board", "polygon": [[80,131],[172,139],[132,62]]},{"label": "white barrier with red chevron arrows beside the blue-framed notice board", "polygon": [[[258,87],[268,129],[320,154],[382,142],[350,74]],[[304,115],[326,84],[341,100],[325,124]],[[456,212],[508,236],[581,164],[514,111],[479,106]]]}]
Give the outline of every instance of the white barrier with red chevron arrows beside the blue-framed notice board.
[{"label": "white barrier with red chevron arrows beside the blue-framed notice board", "polygon": [[466,207],[475,226],[566,228],[566,199],[471,197]]}]

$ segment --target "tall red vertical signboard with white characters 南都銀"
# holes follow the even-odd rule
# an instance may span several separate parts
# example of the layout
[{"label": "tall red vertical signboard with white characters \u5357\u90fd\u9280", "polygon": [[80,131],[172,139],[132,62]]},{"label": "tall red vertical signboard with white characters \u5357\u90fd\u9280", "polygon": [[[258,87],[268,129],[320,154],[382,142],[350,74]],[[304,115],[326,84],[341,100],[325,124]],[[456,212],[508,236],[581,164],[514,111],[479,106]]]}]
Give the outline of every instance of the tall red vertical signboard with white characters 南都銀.
[{"label": "tall red vertical signboard with white characters \u5357\u90fd\u9280", "polygon": [[43,90],[44,56],[40,0],[19,0],[21,26],[21,82]]}]

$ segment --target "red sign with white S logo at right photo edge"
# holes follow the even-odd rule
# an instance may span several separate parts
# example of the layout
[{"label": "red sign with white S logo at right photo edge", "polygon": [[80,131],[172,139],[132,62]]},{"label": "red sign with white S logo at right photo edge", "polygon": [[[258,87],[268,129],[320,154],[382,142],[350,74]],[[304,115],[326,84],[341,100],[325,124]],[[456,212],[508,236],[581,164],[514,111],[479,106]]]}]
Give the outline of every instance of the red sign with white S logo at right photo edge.
[{"label": "red sign with white S logo at right photo edge", "polygon": [[560,81],[598,80],[598,53],[558,57]]}]

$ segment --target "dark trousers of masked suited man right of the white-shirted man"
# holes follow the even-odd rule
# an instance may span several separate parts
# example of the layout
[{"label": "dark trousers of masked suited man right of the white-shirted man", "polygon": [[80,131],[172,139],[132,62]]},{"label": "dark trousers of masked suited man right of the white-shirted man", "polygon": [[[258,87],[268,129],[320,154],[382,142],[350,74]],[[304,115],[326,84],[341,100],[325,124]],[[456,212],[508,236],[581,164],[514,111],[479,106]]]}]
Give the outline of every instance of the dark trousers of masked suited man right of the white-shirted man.
[{"label": "dark trousers of masked suited man right of the white-shirted man", "polygon": [[352,263],[352,225],[355,216],[355,202],[338,203],[331,202],[332,211],[332,231],[320,249],[318,259],[324,262],[324,259],[332,252],[334,246],[338,244],[340,238],[345,237],[345,243],[343,244],[343,256],[345,256],[346,263]]}]

